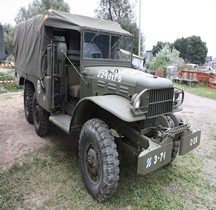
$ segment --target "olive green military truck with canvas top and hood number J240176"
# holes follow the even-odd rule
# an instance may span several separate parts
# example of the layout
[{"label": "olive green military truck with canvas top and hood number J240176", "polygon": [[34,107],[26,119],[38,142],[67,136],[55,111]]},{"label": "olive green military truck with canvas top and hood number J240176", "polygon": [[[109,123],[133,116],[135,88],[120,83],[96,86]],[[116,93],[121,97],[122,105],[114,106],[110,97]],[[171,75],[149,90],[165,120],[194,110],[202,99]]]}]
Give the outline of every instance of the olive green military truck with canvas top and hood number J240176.
[{"label": "olive green military truck with canvas top and hood number J240176", "polygon": [[174,114],[184,92],[168,79],[133,69],[132,49],[133,36],[118,23],[55,10],[14,30],[26,120],[39,136],[49,123],[69,135],[80,133],[83,180],[99,202],[118,186],[117,145],[138,152],[137,173],[145,175],[200,143],[200,130]]}]

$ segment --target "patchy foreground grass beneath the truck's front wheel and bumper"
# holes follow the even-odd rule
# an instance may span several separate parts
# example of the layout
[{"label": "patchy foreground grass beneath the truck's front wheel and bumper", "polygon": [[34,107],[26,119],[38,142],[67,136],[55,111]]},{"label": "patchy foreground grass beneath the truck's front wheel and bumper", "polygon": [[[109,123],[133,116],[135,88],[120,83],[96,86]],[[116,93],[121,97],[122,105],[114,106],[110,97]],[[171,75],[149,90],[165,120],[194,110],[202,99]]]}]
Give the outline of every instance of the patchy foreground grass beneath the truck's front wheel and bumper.
[{"label": "patchy foreground grass beneath the truck's front wheel and bumper", "polygon": [[215,186],[204,160],[193,153],[171,166],[138,176],[134,156],[120,166],[114,197],[97,203],[83,184],[77,153],[68,145],[47,146],[0,174],[2,209],[215,209]]}]

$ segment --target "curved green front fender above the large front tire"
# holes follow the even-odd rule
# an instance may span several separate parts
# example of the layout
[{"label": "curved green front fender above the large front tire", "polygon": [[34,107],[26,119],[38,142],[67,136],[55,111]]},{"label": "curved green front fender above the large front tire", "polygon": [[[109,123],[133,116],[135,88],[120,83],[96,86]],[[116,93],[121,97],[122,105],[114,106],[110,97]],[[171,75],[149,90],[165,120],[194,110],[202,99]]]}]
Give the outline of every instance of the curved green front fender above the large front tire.
[{"label": "curved green front fender above the large front tire", "polygon": [[131,101],[119,95],[103,95],[83,98],[73,113],[71,127],[82,125],[91,118],[96,106],[108,111],[125,122],[143,120],[145,116],[135,116],[131,112]]}]

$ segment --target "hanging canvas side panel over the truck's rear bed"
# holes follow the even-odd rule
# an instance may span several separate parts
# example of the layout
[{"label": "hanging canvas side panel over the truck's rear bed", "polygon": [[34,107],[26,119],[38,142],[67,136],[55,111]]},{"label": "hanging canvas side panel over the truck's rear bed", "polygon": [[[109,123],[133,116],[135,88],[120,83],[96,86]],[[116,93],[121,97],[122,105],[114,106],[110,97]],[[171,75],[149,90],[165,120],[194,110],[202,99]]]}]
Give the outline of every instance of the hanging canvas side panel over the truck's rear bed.
[{"label": "hanging canvas side panel over the truck's rear bed", "polygon": [[42,24],[42,16],[36,16],[18,24],[14,29],[15,68],[38,77],[43,71],[43,32],[40,32]]}]

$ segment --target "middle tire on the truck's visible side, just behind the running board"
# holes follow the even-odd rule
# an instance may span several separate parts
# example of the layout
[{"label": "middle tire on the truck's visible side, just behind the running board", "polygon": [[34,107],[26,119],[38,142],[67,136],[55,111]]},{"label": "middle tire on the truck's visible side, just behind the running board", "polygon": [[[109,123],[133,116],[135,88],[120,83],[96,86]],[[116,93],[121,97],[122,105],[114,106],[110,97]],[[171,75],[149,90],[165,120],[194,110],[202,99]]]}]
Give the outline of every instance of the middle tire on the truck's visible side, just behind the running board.
[{"label": "middle tire on the truck's visible side, just behind the running board", "polygon": [[48,133],[49,113],[38,104],[36,93],[33,95],[33,122],[38,136]]}]

